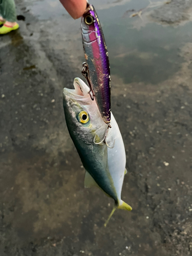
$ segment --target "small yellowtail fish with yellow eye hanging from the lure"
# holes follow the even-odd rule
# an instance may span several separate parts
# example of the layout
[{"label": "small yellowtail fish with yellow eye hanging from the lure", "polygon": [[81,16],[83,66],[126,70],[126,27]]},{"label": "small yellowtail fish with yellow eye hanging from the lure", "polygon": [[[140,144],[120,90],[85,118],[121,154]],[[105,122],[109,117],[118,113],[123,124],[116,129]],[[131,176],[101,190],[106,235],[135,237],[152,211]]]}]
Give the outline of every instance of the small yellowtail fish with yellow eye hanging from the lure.
[{"label": "small yellowtail fish with yellow eye hanging from the lure", "polygon": [[86,169],[84,186],[97,186],[113,198],[112,214],[116,208],[132,210],[121,200],[126,157],[115,118],[112,114],[112,128],[108,129],[106,138],[108,144],[115,140],[115,146],[110,148],[104,142],[97,144],[97,140],[105,135],[108,124],[103,122],[96,101],[90,98],[86,83],[75,78],[74,88],[63,89],[63,107],[70,136]]}]

